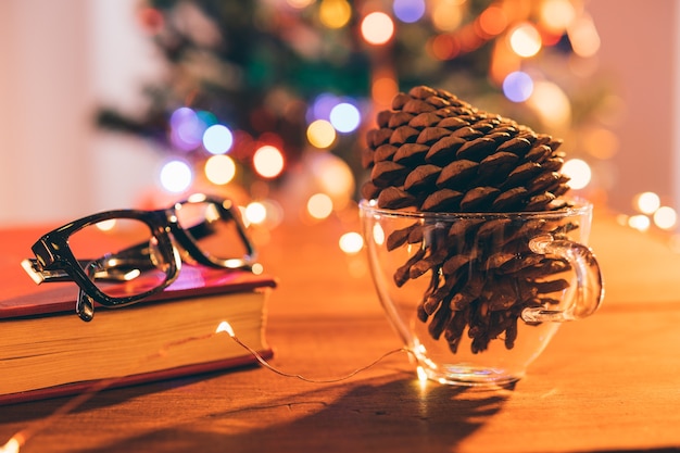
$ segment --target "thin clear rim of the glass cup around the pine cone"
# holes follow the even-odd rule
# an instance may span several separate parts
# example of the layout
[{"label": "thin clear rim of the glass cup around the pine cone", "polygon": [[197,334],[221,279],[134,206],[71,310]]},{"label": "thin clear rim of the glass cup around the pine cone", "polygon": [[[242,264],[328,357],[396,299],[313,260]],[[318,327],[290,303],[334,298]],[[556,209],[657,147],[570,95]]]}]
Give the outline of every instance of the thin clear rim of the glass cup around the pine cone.
[{"label": "thin clear rim of the glass cup around the pine cone", "polygon": [[362,199],[358,207],[362,212],[372,215],[381,215],[388,217],[414,218],[414,219],[437,219],[437,221],[457,221],[465,218],[564,218],[571,216],[589,215],[592,213],[593,204],[579,197],[564,198],[570,205],[555,211],[509,211],[509,212],[427,212],[416,211],[413,209],[391,210],[378,207],[377,200]]}]

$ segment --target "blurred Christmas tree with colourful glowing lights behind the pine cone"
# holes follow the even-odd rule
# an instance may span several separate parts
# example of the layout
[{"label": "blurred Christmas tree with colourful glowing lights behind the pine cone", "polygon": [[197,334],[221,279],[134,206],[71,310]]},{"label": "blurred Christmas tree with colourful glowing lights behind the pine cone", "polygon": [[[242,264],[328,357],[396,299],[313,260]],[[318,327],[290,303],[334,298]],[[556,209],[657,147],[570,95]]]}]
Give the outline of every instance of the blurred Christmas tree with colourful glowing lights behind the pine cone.
[{"label": "blurred Christmas tree with colourful glowing lights behind the pine cone", "polygon": [[565,138],[582,168],[615,146],[580,0],[149,0],[138,17],[166,76],[143,87],[139,116],[99,123],[215,187],[272,186],[302,165],[342,206],[375,113],[420,84]]}]

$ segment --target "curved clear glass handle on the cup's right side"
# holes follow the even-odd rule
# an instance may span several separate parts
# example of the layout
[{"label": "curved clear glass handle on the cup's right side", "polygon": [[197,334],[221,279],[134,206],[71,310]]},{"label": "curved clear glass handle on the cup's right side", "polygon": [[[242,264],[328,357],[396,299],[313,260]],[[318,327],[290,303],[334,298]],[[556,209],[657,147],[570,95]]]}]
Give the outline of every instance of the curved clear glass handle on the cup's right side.
[{"label": "curved clear glass handle on the cup's right side", "polygon": [[540,235],[529,241],[529,249],[542,255],[551,254],[565,259],[576,273],[577,288],[574,300],[565,310],[543,307],[525,309],[521,318],[527,323],[565,322],[593,314],[604,295],[600,265],[588,247],[568,239],[555,239],[552,235]]}]

